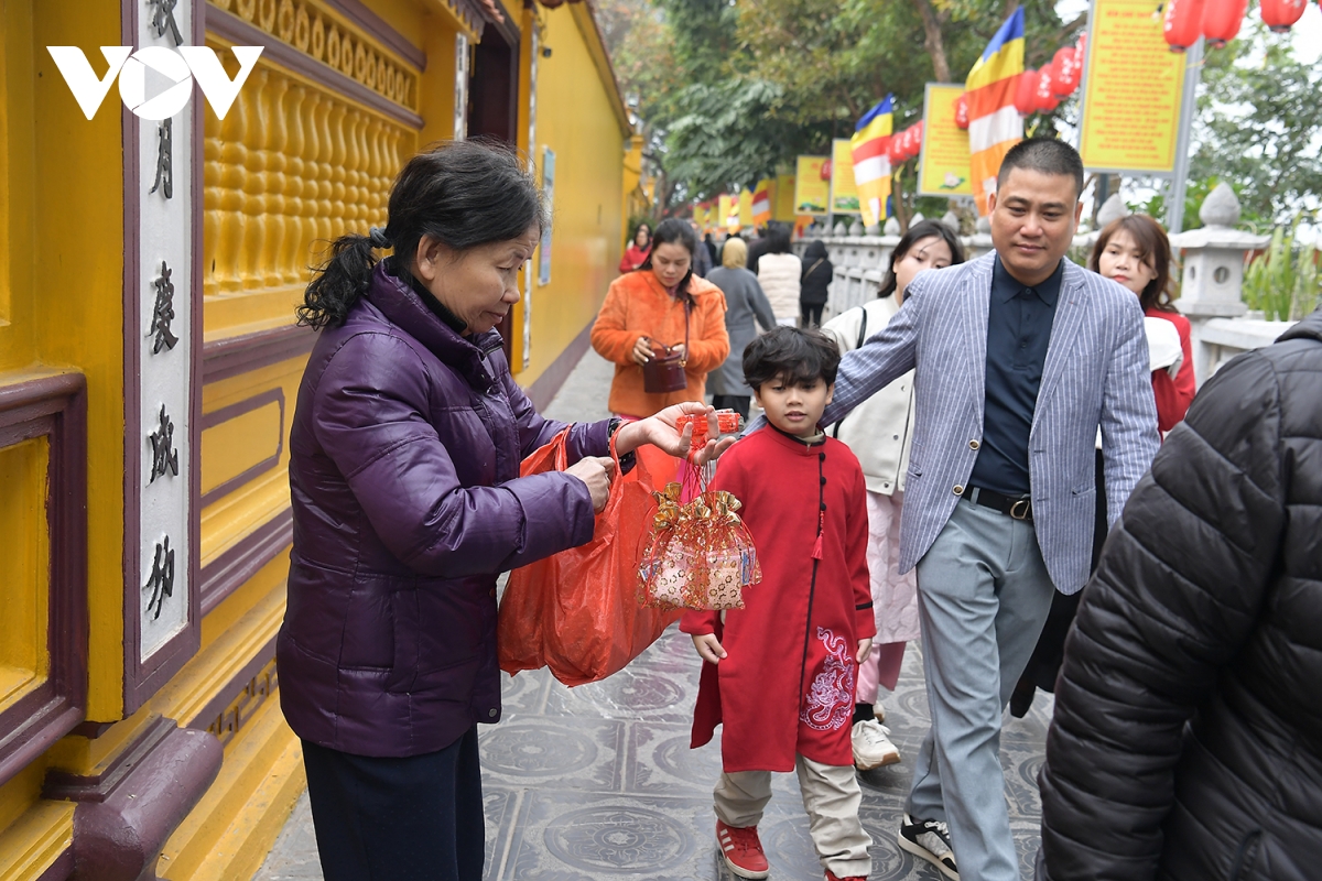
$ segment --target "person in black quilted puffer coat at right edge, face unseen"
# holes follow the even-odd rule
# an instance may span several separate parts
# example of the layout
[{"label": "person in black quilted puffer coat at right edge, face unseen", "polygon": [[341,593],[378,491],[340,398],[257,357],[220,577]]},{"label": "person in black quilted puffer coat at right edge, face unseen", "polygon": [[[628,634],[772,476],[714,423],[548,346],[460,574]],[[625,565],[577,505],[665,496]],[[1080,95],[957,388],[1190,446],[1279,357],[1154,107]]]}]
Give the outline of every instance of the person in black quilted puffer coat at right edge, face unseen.
[{"label": "person in black quilted puffer coat at right edge, face unseen", "polygon": [[1066,642],[1038,878],[1322,872],[1322,312],[1207,382]]}]

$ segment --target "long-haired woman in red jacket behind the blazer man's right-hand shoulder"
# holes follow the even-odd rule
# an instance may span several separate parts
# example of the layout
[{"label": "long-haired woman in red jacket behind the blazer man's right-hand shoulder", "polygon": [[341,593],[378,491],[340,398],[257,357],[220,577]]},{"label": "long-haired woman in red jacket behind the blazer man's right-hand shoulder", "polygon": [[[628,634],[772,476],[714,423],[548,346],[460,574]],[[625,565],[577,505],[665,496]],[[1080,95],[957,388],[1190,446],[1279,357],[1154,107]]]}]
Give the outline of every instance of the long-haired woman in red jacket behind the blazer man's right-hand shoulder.
[{"label": "long-haired woman in red jacket behind the blazer man's right-hand shoulder", "polygon": [[1088,268],[1138,295],[1146,317],[1163,318],[1175,325],[1183,361],[1174,375],[1170,370],[1153,370],[1157,427],[1165,435],[1185,419],[1185,412],[1194,403],[1195,391],[1188,318],[1179,314],[1170,301],[1170,239],[1157,221],[1146,214],[1122,217],[1101,231],[1092,248]]}]

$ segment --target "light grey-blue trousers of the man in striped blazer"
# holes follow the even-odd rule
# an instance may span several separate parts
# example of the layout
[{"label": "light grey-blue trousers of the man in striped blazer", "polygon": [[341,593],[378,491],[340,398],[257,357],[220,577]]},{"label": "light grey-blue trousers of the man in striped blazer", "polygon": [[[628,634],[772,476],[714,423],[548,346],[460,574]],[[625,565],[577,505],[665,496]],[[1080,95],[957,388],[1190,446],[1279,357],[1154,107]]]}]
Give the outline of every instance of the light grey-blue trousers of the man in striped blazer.
[{"label": "light grey-blue trousers of the man in striped blazer", "polygon": [[1001,715],[1055,588],[1032,524],[960,499],[917,564],[932,728],[908,812],[945,820],[960,877],[1018,881],[1001,769]]}]

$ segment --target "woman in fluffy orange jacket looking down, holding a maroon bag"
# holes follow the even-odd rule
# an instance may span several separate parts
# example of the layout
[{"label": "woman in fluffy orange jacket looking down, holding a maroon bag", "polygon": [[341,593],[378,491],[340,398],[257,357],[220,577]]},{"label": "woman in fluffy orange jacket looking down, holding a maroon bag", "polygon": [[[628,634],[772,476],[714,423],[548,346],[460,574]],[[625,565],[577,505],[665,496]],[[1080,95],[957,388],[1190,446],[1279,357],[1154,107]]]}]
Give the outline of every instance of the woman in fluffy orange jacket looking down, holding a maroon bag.
[{"label": "woman in fluffy orange jacket looking down, holding a maroon bag", "polygon": [[[611,412],[645,419],[685,400],[702,400],[707,371],[730,354],[726,295],[693,273],[698,238],[683,221],[657,225],[646,262],[611,283],[592,325],[592,347],[615,365]],[[678,347],[687,387],[665,394],[642,390],[642,365],[658,345]]]}]

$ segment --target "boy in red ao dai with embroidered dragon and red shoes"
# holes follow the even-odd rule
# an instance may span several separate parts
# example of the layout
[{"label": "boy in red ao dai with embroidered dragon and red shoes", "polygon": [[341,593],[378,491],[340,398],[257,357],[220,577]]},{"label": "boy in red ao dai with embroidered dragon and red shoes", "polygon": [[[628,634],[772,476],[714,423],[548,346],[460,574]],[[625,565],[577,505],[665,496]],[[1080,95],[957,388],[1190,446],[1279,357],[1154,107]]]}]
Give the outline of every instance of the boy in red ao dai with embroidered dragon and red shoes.
[{"label": "boy in red ao dai with embroidered dragon and red shoes", "polygon": [[744,378],[769,425],[720,458],[711,489],[743,502],[763,580],[744,609],[689,612],[680,625],[706,662],[693,748],[724,725],[717,843],[742,878],[769,873],[758,823],[771,771],[789,770],[826,881],[871,870],[850,744],[858,664],[876,633],[863,472],[817,427],[838,366],[836,343],[816,330],[776,328],[748,345]]}]

